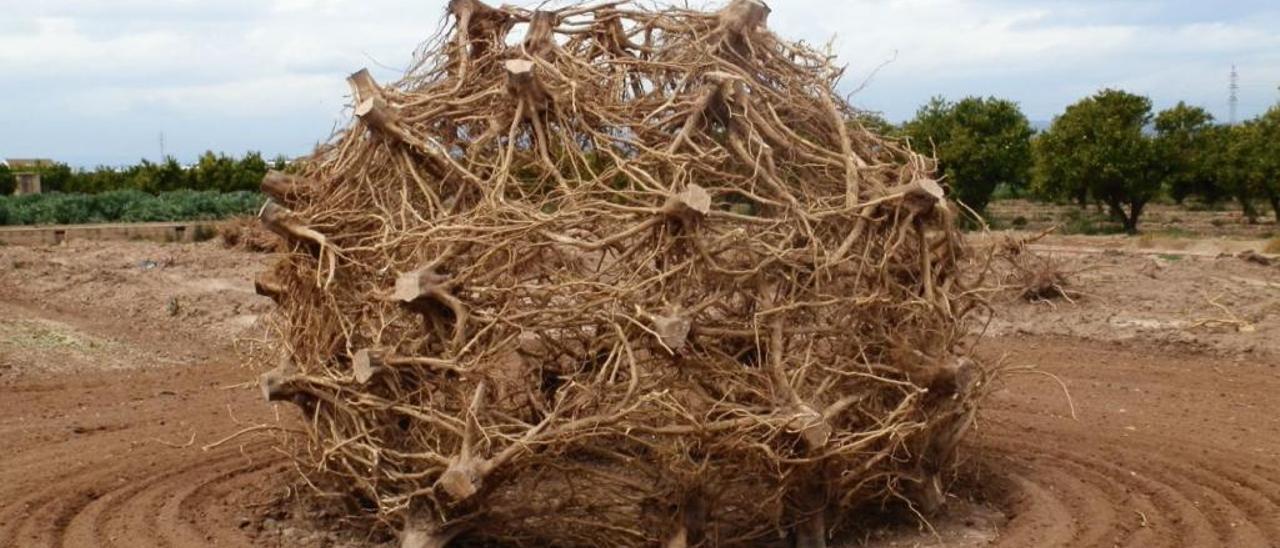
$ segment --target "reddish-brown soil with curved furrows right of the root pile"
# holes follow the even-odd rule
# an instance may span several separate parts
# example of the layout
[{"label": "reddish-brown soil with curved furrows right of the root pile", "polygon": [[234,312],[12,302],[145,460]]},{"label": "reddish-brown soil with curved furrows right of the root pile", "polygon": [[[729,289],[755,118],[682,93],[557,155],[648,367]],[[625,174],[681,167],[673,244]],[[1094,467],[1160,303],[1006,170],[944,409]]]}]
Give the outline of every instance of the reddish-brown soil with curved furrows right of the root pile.
[{"label": "reddish-brown soil with curved furrows right of the root pile", "polygon": [[1271,364],[1073,339],[984,350],[1060,376],[1007,379],[972,442],[1010,516],[996,545],[1277,547],[1280,392]]}]

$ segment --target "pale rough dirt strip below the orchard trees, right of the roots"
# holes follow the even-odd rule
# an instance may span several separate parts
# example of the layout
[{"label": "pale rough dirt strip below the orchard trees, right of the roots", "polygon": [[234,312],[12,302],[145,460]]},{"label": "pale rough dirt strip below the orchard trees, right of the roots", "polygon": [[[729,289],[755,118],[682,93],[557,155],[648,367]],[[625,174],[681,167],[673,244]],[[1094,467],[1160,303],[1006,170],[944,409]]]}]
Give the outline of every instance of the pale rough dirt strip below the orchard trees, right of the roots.
[{"label": "pale rough dirt strip below the orchard trees, right of the roots", "polygon": [[1240,257],[1262,242],[1076,236],[1030,247],[1066,273],[1074,298],[997,296],[991,335],[1146,343],[1231,361],[1280,356],[1280,259]]}]

